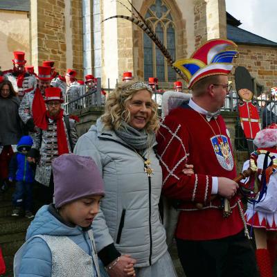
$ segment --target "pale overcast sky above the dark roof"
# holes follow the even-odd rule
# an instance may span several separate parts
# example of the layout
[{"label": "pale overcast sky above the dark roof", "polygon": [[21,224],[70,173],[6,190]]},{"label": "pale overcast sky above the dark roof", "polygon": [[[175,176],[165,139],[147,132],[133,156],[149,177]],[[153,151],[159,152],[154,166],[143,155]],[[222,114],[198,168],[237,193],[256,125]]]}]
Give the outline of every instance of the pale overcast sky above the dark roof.
[{"label": "pale overcast sky above the dark roof", "polygon": [[239,28],[277,42],[277,0],[226,0],[226,11]]}]

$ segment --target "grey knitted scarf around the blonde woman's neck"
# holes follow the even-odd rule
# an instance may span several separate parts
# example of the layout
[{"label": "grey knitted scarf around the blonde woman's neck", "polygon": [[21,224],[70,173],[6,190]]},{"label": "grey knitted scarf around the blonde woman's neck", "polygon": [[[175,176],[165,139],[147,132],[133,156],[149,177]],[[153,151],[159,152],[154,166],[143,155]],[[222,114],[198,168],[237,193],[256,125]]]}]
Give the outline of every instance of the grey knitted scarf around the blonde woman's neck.
[{"label": "grey knitted scarf around the blonde woman's neck", "polygon": [[145,150],[148,147],[151,147],[156,141],[156,136],[154,132],[148,133],[145,129],[134,129],[125,121],[121,122],[121,128],[114,130],[116,135],[125,141],[127,145],[131,146],[136,150]]}]

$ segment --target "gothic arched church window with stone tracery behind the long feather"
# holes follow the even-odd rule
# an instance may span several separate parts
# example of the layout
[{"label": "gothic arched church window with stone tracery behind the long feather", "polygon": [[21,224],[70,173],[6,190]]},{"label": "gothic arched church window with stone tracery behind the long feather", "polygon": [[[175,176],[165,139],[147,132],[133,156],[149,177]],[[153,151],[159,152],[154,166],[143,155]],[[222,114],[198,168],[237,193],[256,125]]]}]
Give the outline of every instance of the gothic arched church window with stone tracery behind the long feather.
[{"label": "gothic arched church window with stone tracery behind the long feather", "polygon": [[[156,0],[148,8],[145,19],[175,60],[176,27],[165,1]],[[149,77],[157,77],[159,81],[166,82],[176,80],[176,73],[168,66],[166,57],[145,33],[143,34],[143,52],[145,80],[148,80]]]}]

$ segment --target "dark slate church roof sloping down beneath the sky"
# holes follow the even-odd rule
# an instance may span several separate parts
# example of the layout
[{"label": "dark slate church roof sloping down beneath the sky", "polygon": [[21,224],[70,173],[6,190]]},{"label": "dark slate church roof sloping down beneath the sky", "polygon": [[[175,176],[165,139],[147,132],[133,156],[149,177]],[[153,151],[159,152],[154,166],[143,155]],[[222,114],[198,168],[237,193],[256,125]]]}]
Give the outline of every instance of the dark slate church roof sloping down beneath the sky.
[{"label": "dark slate church roof sloping down beneath the sky", "polygon": [[271,46],[277,47],[276,42],[272,42],[269,39],[255,35],[247,30],[238,28],[241,22],[235,19],[232,15],[226,12],[227,16],[227,38],[233,40],[233,42],[238,44],[251,44],[259,46]]}]

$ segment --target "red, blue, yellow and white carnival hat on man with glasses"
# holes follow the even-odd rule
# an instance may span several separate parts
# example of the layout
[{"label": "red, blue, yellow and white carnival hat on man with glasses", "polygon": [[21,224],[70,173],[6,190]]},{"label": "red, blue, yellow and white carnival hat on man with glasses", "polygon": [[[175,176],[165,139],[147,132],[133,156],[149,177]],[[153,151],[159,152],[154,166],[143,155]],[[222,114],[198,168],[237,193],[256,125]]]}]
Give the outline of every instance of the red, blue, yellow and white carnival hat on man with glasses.
[{"label": "red, blue, yellow and white carnival hat on man with glasses", "polygon": [[238,46],[228,39],[211,39],[199,47],[190,59],[177,60],[173,66],[187,78],[188,89],[195,82],[211,75],[227,75],[233,68]]}]

